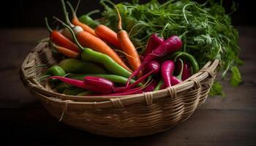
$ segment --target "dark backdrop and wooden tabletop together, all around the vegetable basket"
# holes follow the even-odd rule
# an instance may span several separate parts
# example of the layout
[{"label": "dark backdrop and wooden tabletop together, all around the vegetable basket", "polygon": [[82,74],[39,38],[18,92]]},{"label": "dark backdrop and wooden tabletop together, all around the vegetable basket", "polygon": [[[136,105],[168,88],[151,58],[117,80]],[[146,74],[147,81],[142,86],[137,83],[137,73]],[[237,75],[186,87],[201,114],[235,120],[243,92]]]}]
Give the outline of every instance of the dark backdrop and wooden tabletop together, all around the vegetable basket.
[{"label": "dark backdrop and wooden tabletop together, all around the vegetable basket", "polygon": [[[75,5],[78,0],[69,1]],[[132,139],[100,137],[59,123],[23,87],[20,66],[36,42],[48,36],[43,18],[62,18],[61,4],[59,0],[1,1],[0,145],[256,145],[255,5],[235,1],[239,7],[232,20],[239,31],[244,82],[238,88],[223,82],[225,98],[208,98],[192,118],[170,131]],[[230,12],[232,1],[223,2]],[[83,0],[78,15],[92,9],[102,9],[99,0]]]}]

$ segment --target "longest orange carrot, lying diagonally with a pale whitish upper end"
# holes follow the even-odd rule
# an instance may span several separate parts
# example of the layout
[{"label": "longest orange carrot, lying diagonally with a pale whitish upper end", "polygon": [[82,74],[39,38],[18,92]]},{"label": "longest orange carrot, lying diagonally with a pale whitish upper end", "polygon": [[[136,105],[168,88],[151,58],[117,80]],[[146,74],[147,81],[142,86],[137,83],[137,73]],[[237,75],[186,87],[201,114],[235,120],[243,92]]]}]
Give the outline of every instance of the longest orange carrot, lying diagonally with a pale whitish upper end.
[{"label": "longest orange carrot, lying diagonally with a pale whitish upper end", "polygon": [[73,28],[73,31],[75,32],[75,36],[78,39],[78,42],[80,42],[83,47],[89,47],[92,50],[96,50],[100,53],[104,53],[110,56],[110,58],[113,58],[113,60],[116,61],[117,64],[124,67],[124,69],[127,69],[129,72],[132,72],[131,69],[129,69],[129,67],[124,64],[124,62],[116,54],[116,52],[111,49],[105,42],[103,42],[102,39],[99,39],[98,37],[95,37],[94,35],[83,31],[82,28],[80,28],[79,26],[75,26],[75,28]]}]

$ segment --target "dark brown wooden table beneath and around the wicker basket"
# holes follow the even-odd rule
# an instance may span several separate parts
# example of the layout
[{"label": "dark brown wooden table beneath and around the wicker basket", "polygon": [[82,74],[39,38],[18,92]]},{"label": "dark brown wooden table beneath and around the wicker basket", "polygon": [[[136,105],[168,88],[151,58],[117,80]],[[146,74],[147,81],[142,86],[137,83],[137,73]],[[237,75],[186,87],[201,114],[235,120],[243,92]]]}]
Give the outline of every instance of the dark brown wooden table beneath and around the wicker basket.
[{"label": "dark brown wooden table beneath and around the wicker basket", "polygon": [[[0,29],[1,144],[30,145],[256,145],[256,28],[240,31],[244,82],[230,88],[225,98],[208,98],[189,120],[169,131],[148,137],[114,139],[89,134],[58,123],[23,87],[19,67],[39,39],[42,28]],[[1,145],[0,144],[0,145]]]}]

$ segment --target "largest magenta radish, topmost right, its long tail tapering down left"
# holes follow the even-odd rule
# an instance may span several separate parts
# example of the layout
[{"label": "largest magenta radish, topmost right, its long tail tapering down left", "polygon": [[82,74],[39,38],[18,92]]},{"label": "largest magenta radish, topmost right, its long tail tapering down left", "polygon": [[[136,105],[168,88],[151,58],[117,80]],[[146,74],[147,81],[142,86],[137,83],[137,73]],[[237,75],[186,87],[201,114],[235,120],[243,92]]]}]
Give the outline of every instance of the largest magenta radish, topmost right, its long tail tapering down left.
[{"label": "largest magenta radish, topmost right, its long tail tapering down left", "polygon": [[154,58],[158,58],[160,56],[167,55],[169,53],[174,53],[179,50],[182,46],[181,39],[178,36],[169,37],[165,42],[162,42],[155,50],[145,56],[143,62],[141,63],[140,67],[132,73],[127,81],[127,86],[129,85],[129,81],[134,77],[141,69],[149,62],[154,60]]}]

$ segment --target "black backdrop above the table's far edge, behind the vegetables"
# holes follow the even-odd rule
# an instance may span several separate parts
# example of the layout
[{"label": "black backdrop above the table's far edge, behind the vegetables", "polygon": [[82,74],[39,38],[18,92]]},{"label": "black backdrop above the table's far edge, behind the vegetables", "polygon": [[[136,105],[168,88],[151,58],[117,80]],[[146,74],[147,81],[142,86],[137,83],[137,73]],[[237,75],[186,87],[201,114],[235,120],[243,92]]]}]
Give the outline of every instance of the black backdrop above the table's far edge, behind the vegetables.
[{"label": "black backdrop above the table's far edge, behind the vegetables", "polygon": [[[77,0],[71,3],[75,6]],[[115,3],[121,0],[113,0]],[[148,0],[140,0],[146,2]],[[165,0],[159,0],[163,2]],[[203,1],[203,0],[200,0]],[[238,10],[231,15],[233,25],[235,26],[255,26],[255,8],[252,1],[233,0],[239,6]],[[223,0],[223,6],[227,13],[230,12],[232,0]],[[93,9],[101,9],[99,0],[82,0],[78,9],[78,16],[90,12]],[[44,17],[51,18],[53,15],[62,18],[61,4],[59,0],[9,0],[1,4],[1,28],[18,27],[44,27]],[[96,16],[96,17],[99,17]]]}]

